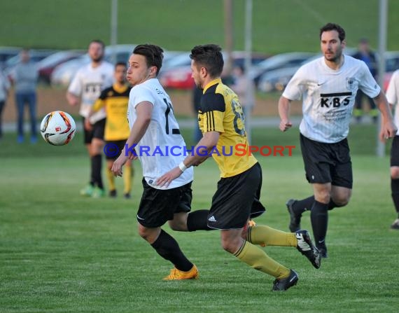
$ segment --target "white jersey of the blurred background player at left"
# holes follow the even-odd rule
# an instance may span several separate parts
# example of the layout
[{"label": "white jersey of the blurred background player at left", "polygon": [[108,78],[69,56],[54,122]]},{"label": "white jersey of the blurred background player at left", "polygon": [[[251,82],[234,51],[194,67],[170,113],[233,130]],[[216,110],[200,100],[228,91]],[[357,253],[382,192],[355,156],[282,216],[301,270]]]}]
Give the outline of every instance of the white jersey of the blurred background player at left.
[{"label": "white jersey of the blurred background player at left", "polygon": [[[76,72],[68,91],[77,97],[81,96],[80,116],[87,118],[94,102],[103,89],[113,85],[113,65],[103,61],[98,67],[87,64]],[[104,109],[90,117],[90,123],[95,123],[106,117]]]}]

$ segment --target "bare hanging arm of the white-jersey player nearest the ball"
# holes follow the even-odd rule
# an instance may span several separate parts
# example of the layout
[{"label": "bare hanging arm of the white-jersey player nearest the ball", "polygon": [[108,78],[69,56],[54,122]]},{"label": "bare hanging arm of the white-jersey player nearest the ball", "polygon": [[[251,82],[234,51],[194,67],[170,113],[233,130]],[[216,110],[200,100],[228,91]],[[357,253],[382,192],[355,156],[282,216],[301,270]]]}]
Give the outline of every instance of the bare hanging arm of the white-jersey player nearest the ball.
[{"label": "bare hanging arm of the white-jersey player nearest the ball", "polygon": [[[136,106],[137,119],[132,125],[129,138],[126,141],[125,148],[123,148],[118,159],[113,162],[111,172],[116,176],[122,176],[122,167],[130,157],[134,158],[134,154],[130,151],[134,144],[137,144],[147,131],[148,125],[151,122],[153,115],[153,104],[148,101],[140,102]],[[128,150],[126,149],[128,148]]]}]

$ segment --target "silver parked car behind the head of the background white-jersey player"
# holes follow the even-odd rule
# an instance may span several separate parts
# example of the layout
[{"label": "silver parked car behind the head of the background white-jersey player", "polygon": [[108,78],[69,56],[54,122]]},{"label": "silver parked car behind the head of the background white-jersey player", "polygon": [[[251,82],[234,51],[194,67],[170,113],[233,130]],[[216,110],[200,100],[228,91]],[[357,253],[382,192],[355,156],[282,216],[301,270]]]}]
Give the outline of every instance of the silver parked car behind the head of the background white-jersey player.
[{"label": "silver parked car behind the head of the background white-jersey player", "polygon": [[[113,62],[113,53],[116,55],[116,62],[127,62],[134,49],[135,45],[116,45],[106,46],[104,59]],[[51,85],[68,86],[71,83],[73,76],[80,67],[90,63],[90,57],[87,53],[76,59],[64,62],[55,67],[50,77]]]}]

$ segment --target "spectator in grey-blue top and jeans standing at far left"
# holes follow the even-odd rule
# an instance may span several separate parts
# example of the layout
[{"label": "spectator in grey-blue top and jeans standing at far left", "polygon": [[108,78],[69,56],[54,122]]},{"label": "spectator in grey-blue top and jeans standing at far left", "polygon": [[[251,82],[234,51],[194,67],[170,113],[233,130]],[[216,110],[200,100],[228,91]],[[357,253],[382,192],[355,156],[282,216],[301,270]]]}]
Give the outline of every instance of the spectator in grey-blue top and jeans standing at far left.
[{"label": "spectator in grey-blue top and jeans standing at far left", "polygon": [[31,120],[31,144],[36,144],[36,88],[38,71],[36,64],[30,60],[28,49],[22,49],[20,58],[20,63],[15,66],[15,69],[11,73],[18,113],[18,143],[22,144],[24,142],[24,109],[25,104],[28,104]]}]

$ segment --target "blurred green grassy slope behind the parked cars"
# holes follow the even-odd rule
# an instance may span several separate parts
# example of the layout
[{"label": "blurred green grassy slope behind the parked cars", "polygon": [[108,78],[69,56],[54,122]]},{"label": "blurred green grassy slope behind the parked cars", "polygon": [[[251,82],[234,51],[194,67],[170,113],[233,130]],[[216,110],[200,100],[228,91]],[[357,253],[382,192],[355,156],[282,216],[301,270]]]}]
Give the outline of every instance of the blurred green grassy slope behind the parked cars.
[{"label": "blurred green grassy slope behind the parked cars", "polygon": [[[244,50],[245,1],[233,0],[234,48]],[[1,46],[86,48],[110,43],[110,0],[2,1]],[[388,1],[387,49],[399,50],[399,1]],[[318,29],[337,22],[349,46],[367,36],[378,46],[379,0],[253,0],[253,50],[318,52]],[[190,50],[204,43],[225,46],[222,0],[119,0],[118,43],[156,43]]]}]

